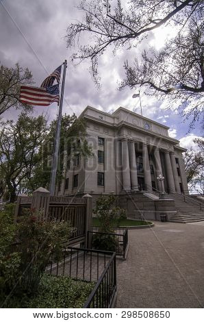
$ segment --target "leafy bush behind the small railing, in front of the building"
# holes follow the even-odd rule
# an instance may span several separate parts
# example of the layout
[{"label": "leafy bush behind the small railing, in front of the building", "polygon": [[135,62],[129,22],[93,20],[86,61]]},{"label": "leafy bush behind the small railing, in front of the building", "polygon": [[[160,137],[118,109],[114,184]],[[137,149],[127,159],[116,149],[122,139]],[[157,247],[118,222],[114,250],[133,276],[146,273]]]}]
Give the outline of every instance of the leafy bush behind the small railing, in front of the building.
[{"label": "leafy bush behind the small railing, in front of the building", "polygon": [[114,227],[120,225],[120,221],[126,218],[125,210],[116,206],[117,197],[109,195],[101,196],[97,199],[97,205],[94,214],[100,222],[100,232],[112,233]]}]

